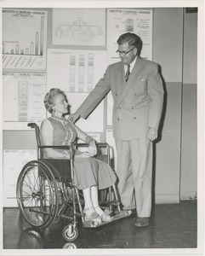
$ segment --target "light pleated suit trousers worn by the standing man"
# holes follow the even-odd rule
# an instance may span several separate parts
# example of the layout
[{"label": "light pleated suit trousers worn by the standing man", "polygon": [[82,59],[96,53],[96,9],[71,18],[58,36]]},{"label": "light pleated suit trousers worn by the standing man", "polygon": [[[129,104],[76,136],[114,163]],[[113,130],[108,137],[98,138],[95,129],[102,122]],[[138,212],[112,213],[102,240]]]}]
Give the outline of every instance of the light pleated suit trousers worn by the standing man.
[{"label": "light pleated suit trousers worn by the standing man", "polygon": [[121,141],[117,146],[117,188],[123,209],[136,208],[138,217],[151,216],[152,143],[147,139]]}]

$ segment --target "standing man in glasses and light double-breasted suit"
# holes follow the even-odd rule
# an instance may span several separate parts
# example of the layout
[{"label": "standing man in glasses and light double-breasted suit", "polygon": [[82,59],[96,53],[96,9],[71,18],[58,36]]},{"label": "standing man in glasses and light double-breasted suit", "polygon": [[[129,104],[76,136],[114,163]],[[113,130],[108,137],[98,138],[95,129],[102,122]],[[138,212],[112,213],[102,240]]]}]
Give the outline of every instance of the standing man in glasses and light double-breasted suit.
[{"label": "standing man in glasses and light double-breasted suit", "polygon": [[123,209],[136,209],[135,225],[144,227],[151,216],[152,142],[157,139],[162,114],[162,79],[157,63],[140,58],[140,37],[127,32],[117,44],[121,61],[107,67],[104,77],[69,119],[86,119],[111,90],[117,187]]}]

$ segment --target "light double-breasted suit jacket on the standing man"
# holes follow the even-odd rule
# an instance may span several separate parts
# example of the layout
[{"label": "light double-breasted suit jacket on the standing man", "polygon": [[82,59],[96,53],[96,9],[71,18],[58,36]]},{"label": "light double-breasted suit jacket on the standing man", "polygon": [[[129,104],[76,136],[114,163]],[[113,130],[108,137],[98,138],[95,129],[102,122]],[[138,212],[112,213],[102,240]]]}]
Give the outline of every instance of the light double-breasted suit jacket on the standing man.
[{"label": "light double-breasted suit jacket on the standing man", "polygon": [[145,138],[149,127],[158,129],[162,114],[163,87],[158,65],[138,56],[127,83],[124,76],[122,61],[107,67],[77,113],[86,119],[111,90],[113,136],[121,140]]}]

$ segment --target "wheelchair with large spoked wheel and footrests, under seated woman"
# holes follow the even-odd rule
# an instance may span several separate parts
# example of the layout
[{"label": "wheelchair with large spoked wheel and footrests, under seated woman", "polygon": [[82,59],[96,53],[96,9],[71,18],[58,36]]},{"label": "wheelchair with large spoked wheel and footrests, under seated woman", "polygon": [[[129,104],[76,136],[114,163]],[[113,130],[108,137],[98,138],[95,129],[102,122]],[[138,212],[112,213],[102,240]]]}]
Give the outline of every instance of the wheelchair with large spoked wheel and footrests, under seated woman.
[{"label": "wheelchair with large spoked wheel and footrests, under seated woman", "polygon": [[[33,228],[45,229],[57,218],[65,219],[68,224],[62,230],[65,241],[75,241],[78,236],[77,219],[81,218],[83,227],[95,228],[103,224],[85,221],[83,213],[83,194],[74,183],[73,150],[88,147],[86,143],[71,146],[43,146],[40,129],[36,123],[29,123],[35,129],[37,138],[37,160],[23,166],[16,184],[16,200],[20,213]],[[70,150],[70,160],[43,159],[44,148]],[[107,143],[97,143],[96,158],[110,164],[110,147]],[[122,211],[113,184],[108,189],[99,190],[100,207],[111,214],[111,221],[128,217],[130,211]],[[109,222],[110,223],[110,222]]]}]

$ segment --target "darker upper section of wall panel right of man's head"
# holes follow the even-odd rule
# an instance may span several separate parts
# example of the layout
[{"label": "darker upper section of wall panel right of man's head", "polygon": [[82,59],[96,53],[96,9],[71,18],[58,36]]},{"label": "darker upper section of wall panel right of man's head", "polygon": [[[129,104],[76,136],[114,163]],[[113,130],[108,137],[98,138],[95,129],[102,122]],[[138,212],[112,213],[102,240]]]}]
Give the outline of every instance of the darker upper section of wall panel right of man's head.
[{"label": "darker upper section of wall panel right of man's head", "polygon": [[154,9],[153,61],[160,64],[165,82],[182,79],[183,9]]}]

